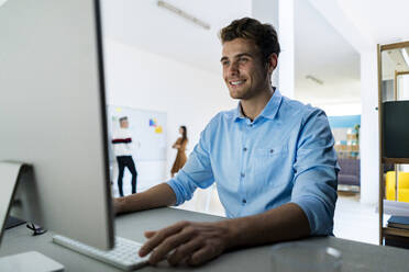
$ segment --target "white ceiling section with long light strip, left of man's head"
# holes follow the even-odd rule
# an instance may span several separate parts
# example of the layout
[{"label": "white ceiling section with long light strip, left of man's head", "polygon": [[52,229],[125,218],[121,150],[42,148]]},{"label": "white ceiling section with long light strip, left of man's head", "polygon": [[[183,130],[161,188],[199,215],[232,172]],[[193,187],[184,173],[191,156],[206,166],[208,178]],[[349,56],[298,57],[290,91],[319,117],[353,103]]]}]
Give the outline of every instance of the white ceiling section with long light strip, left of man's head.
[{"label": "white ceiling section with long light strip, left of man's head", "polygon": [[248,0],[166,0],[209,23],[204,30],[157,7],[157,0],[103,0],[104,33],[122,43],[220,75],[218,32],[251,14]]}]

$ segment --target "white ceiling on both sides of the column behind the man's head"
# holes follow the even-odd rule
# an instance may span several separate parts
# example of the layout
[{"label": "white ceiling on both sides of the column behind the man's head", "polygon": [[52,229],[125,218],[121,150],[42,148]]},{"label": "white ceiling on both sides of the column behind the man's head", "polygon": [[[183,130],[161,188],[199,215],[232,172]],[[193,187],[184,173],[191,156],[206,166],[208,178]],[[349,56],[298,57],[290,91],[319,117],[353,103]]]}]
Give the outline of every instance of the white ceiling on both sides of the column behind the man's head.
[{"label": "white ceiling on both sides of the column behind the man's head", "polygon": [[[220,75],[218,31],[251,15],[252,0],[166,1],[208,22],[210,31],[158,8],[156,0],[103,0],[106,35]],[[358,103],[357,50],[409,37],[408,10],[407,0],[295,0],[296,98],[318,104]],[[307,80],[307,75],[324,83]]]}]

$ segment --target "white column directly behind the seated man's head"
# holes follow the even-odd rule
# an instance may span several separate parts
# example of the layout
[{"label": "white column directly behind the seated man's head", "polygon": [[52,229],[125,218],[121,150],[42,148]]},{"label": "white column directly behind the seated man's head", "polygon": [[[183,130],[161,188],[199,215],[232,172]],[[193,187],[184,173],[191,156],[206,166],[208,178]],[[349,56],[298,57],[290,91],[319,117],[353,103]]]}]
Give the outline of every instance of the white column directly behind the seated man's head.
[{"label": "white column directly behind the seated man's head", "polygon": [[278,67],[273,72],[273,86],[294,98],[295,91],[295,29],[294,0],[253,0],[252,16],[262,23],[269,23],[278,32],[281,53]]}]

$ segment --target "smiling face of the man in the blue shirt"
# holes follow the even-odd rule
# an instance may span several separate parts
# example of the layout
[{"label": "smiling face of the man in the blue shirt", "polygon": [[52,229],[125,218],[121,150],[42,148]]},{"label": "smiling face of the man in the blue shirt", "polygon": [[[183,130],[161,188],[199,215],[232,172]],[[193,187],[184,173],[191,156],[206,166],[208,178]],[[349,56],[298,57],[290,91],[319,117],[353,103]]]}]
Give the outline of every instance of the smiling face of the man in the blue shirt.
[{"label": "smiling face of the man in the blue shirt", "polygon": [[257,46],[245,38],[223,43],[223,79],[233,99],[248,100],[268,88],[267,65],[262,61]]}]

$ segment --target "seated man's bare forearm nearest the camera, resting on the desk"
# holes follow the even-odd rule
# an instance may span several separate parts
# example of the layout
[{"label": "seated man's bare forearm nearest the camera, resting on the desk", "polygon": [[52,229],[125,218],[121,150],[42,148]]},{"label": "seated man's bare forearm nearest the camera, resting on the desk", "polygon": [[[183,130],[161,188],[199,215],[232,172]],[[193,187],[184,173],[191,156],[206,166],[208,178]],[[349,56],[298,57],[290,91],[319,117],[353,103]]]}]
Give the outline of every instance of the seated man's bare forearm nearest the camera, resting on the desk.
[{"label": "seated man's bare forearm nearest the camera, resting on the desk", "polygon": [[310,234],[308,218],[295,203],[263,214],[221,222],[231,234],[228,248],[252,247],[294,240]]}]

